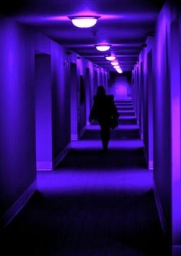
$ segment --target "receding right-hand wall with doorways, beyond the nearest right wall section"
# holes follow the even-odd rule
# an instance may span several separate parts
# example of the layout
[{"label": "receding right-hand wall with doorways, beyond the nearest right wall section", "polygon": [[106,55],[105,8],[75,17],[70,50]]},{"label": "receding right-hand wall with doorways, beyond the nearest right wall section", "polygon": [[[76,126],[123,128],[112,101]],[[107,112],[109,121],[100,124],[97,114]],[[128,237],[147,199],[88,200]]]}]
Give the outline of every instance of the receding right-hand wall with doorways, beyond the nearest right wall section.
[{"label": "receding right-hand wall with doorways, beyond the nearest right wall section", "polygon": [[133,100],[149,169],[153,169],[153,44],[149,36],[133,71]]}]

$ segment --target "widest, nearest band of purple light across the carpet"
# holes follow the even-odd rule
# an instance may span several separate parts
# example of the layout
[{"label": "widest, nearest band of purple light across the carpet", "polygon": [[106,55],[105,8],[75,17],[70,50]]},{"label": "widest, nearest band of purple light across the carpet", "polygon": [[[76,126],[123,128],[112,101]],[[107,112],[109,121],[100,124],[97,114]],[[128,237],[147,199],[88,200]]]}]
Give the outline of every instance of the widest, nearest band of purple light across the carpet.
[{"label": "widest, nearest band of purple light across the carpet", "polygon": [[105,190],[126,191],[143,193],[153,187],[153,174],[143,170],[61,170],[38,173],[37,187],[41,193],[48,194],[75,194]]}]

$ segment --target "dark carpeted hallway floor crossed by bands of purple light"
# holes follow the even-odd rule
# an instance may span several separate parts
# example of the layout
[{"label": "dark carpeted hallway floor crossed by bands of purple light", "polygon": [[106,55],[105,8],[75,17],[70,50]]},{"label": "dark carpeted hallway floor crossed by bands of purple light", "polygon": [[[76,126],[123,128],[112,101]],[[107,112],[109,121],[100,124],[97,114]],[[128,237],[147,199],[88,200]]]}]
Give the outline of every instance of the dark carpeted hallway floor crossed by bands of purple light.
[{"label": "dark carpeted hallway floor crossed by bands of purple light", "polygon": [[3,256],[167,255],[133,105],[117,108],[108,152],[94,124],[56,170],[38,172],[38,190],[5,230]]}]

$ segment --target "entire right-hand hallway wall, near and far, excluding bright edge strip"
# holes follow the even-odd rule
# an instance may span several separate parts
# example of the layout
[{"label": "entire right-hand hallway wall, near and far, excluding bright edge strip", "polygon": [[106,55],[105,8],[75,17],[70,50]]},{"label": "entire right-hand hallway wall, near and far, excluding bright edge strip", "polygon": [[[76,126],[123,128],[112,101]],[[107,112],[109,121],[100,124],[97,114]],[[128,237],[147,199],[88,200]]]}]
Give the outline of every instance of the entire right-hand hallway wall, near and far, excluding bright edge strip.
[{"label": "entire right-hand hallway wall, near and far, excluding bright edge strip", "polygon": [[[160,13],[155,38],[148,37],[146,40],[147,47],[143,48],[140,53],[139,61],[133,72],[133,99],[137,110],[140,134],[145,145],[147,165],[150,169],[153,167],[156,190],[159,194],[164,217],[170,230],[170,98],[166,27],[163,25],[163,22],[163,16]],[[150,52],[152,52],[153,61],[149,59]],[[150,69],[153,69],[153,71]],[[151,126],[152,123],[153,125]],[[153,139],[150,141],[151,136],[153,136]],[[152,155],[150,155],[150,150],[153,150]]]}]

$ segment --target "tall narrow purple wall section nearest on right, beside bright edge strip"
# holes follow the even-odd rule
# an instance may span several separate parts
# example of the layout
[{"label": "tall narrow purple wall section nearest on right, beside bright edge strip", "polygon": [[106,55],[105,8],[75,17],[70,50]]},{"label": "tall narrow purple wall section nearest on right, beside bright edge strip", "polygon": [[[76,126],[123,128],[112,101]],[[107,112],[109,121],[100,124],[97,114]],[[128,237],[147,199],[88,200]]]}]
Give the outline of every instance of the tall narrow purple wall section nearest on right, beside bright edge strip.
[{"label": "tall narrow purple wall section nearest on right, beside bright edge strip", "polygon": [[170,84],[168,67],[168,31],[165,9],[160,13],[156,28],[154,83],[154,180],[160,196],[168,229],[171,229],[171,124]]}]

